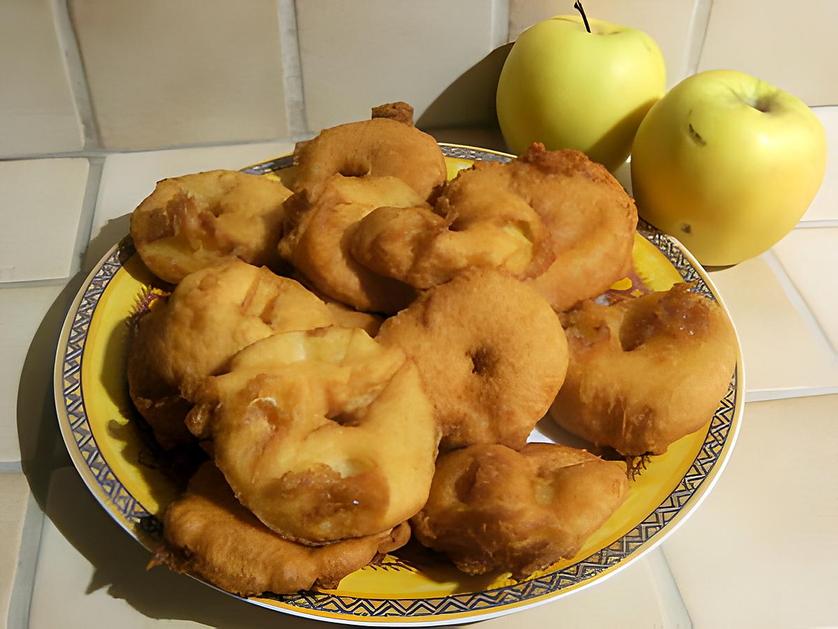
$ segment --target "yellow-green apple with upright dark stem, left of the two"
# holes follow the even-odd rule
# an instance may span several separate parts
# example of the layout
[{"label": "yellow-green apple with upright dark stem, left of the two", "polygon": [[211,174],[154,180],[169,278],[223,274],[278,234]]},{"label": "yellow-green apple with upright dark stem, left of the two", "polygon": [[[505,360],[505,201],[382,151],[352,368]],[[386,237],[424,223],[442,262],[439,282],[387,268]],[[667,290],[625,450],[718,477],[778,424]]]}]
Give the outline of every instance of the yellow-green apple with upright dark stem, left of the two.
[{"label": "yellow-green apple with upright dark stem, left of the two", "polygon": [[654,39],[642,31],[559,15],[535,24],[510,50],[498,81],[500,129],[511,152],[531,142],[576,148],[614,170],[666,90]]}]

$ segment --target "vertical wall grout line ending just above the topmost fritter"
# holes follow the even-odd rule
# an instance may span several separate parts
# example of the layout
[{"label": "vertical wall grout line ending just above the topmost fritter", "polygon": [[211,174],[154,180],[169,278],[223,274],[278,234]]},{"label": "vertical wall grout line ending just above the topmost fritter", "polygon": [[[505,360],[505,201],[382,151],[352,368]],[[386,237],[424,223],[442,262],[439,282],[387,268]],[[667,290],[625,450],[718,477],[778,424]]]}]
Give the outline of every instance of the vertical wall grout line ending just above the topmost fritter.
[{"label": "vertical wall grout line ending just above the topmost fritter", "polygon": [[282,57],[282,86],[288,133],[308,135],[306,99],[303,89],[303,55],[297,30],[297,8],[294,0],[277,0],[279,45]]}]

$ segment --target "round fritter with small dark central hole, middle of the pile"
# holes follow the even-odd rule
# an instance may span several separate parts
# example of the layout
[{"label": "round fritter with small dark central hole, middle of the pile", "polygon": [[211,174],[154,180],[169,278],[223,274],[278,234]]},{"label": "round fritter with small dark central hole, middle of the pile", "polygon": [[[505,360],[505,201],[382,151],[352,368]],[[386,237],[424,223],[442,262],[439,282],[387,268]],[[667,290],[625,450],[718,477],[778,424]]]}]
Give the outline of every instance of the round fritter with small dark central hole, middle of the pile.
[{"label": "round fritter with small dark central hole, middle of the pile", "polygon": [[561,387],[567,343],[550,305],[498,271],[427,291],[376,339],[416,361],[442,428],[442,451],[524,445]]}]

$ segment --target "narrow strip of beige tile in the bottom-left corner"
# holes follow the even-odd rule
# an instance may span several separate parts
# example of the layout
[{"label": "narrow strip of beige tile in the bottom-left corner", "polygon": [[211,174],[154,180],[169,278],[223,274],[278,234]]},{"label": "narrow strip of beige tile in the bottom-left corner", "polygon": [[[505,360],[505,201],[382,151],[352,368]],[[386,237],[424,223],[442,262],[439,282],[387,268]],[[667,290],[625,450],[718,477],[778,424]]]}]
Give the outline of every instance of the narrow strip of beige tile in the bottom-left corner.
[{"label": "narrow strip of beige tile in the bottom-left corner", "polygon": [[5,626],[17,574],[23,520],[29,500],[26,477],[0,474],[0,625]]}]

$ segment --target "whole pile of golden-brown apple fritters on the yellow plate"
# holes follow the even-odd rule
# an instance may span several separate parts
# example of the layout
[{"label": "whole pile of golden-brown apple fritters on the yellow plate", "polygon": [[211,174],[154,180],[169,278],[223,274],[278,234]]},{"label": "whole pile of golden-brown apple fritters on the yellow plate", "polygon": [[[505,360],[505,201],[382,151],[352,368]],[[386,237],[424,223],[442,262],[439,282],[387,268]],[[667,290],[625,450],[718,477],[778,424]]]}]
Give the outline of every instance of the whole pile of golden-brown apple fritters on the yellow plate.
[{"label": "whole pile of golden-brown apple fritters on the yellow plate", "polygon": [[[410,522],[469,574],[523,578],[576,554],[628,491],[621,464],[526,443],[548,409],[631,454],[709,419],[732,370],[715,303],[585,302],[629,271],[637,213],[582,153],[534,144],[446,183],[437,143],[393,103],[301,142],[295,165],[291,190],[166,180],[132,218],[142,260],[176,285],[137,327],[132,400],[163,448],[199,440],[213,458],[153,563],[242,595],[330,587]],[[615,343],[634,352],[624,368]],[[714,365],[682,396],[703,395],[688,419],[682,398],[644,406],[652,391],[620,380],[680,351]]]}]

